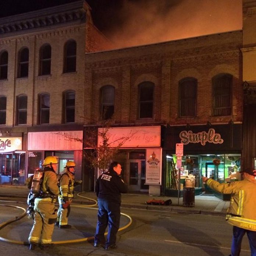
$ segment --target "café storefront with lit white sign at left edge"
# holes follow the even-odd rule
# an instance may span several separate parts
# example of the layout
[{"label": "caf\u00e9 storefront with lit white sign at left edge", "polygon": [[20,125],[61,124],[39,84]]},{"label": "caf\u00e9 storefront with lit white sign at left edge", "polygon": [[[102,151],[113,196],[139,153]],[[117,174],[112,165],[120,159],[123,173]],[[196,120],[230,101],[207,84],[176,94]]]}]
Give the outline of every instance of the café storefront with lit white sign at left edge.
[{"label": "caf\u00e9 storefront with lit white sign at left edge", "polygon": [[12,136],[0,137],[0,184],[24,185],[26,151],[22,142],[26,138],[22,134]]}]

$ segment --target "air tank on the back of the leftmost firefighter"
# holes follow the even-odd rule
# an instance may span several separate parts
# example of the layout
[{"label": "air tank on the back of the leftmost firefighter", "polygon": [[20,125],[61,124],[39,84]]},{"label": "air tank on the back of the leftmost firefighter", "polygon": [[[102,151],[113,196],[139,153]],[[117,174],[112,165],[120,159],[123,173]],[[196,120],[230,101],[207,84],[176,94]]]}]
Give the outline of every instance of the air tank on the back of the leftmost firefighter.
[{"label": "air tank on the back of the leftmost firefighter", "polygon": [[33,175],[32,184],[31,184],[31,189],[30,189],[30,192],[28,194],[28,200],[27,200],[27,203],[28,203],[28,209],[27,209],[28,218],[34,218],[33,213],[34,213],[35,198],[38,195],[38,193],[40,192],[42,180],[43,180],[43,171],[40,170],[40,169],[35,170],[35,173]]}]

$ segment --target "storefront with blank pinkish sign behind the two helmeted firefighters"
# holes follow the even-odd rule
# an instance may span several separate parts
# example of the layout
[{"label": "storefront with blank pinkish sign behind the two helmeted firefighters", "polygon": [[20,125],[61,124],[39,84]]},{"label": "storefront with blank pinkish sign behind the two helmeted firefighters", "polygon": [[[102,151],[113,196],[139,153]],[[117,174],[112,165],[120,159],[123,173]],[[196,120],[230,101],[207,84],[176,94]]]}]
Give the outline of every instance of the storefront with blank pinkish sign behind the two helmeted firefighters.
[{"label": "storefront with blank pinkish sign behind the two helmeted firefighters", "polygon": [[75,177],[82,179],[82,136],[82,131],[29,132],[27,177],[42,168],[45,157],[56,156],[58,173],[64,170],[67,161],[75,161]]}]

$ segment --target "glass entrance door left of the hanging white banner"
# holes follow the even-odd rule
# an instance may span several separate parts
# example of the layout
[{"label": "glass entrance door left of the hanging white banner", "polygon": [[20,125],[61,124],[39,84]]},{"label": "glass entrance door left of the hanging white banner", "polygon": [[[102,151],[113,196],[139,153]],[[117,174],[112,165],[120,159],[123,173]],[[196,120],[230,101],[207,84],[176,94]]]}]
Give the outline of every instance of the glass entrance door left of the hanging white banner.
[{"label": "glass entrance door left of the hanging white banner", "polygon": [[129,161],[129,190],[130,191],[147,191],[148,185],[145,185],[146,170],[145,160]]}]

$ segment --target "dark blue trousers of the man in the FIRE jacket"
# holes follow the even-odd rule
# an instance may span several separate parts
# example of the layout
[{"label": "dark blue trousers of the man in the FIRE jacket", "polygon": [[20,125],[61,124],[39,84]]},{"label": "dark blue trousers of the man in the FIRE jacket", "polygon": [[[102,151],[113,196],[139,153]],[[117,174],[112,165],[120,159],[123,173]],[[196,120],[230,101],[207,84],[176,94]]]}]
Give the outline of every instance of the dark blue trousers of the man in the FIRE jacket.
[{"label": "dark blue trousers of the man in the FIRE jacket", "polygon": [[109,200],[98,199],[98,221],[94,235],[95,243],[105,243],[104,233],[109,224],[109,232],[105,246],[114,245],[120,224],[120,204]]}]

